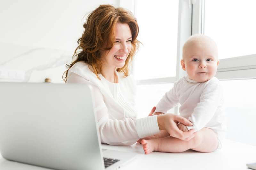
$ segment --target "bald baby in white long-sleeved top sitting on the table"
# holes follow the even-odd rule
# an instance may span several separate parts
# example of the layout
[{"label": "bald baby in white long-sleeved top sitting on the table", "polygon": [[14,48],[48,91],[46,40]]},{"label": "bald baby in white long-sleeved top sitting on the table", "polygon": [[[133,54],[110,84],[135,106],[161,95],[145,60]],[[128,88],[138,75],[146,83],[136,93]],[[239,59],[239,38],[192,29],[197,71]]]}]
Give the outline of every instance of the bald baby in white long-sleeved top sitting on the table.
[{"label": "bald baby in white long-sleeved top sitting on the table", "polygon": [[156,105],[156,112],[166,113],[180,103],[180,116],[188,118],[193,126],[178,124],[178,128],[181,131],[195,129],[195,137],[185,141],[162,131],[140,140],[146,154],[188,149],[213,152],[221,148],[225,116],[220,81],[214,77],[219,65],[217,45],[208,36],[191,36],[183,46],[180,63],[188,76],[176,81],[173,88],[165,93]]}]

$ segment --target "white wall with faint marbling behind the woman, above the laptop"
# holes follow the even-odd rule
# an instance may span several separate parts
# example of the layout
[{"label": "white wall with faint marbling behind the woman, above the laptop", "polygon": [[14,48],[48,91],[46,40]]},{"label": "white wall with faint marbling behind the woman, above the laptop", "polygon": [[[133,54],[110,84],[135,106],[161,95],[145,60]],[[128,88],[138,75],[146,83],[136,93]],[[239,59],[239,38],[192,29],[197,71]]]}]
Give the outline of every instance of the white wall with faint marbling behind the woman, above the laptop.
[{"label": "white wall with faint marbling behind the woman, above the laptop", "polygon": [[[119,0],[9,0],[0,5],[0,77],[6,70],[25,72],[26,82],[46,77],[63,83],[87,14]],[[0,78],[0,81],[3,79]]]}]

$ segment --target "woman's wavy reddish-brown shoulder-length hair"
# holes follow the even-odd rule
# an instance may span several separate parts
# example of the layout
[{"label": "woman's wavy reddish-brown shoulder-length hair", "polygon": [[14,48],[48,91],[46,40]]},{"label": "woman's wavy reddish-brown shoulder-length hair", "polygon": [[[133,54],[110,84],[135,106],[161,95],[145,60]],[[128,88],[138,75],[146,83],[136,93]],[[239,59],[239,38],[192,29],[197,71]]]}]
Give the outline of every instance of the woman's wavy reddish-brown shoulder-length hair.
[{"label": "woman's wavy reddish-brown shoulder-length hair", "polygon": [[83,61],[92,66],[92,72],[100,79],[98,76],[101,73],[102,65],[100,51],[110,50],[114,45],[114,31],[117,22],[128,24],[132,32],[132,49],[125,60],[124,67],[117,68],[117,72],[124,72],[125,77],[129,75],[132,58],[140,43],[137,40],[139,33],[137,20],[130,11],[123,8],[115,8],[112,5],[100,5],[88,15],[87,21],[83,25],[83,35],[77,40],[78,47],[72,56],[73,59],[76,59],[72,63],[66,64],[68,69],[62,75],[63,78],[66,73],[63,79],[65,82],[68,79],[68,70],[78,61]]}]

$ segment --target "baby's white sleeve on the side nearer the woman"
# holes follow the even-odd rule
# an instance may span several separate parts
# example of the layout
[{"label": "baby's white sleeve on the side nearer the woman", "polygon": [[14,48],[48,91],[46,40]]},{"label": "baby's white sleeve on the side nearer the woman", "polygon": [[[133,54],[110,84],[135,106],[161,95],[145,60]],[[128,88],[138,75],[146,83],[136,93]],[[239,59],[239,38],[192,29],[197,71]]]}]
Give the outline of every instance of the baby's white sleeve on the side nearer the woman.
[{"label": "baby's white sleeve on the side nearer the woman", "polygon": [[156,112],[166,113],[168,110],[172,109],[179,102],[176,95],[177,83],[174,83],[173,88],[166,92],[162,99],[156,105]]}]

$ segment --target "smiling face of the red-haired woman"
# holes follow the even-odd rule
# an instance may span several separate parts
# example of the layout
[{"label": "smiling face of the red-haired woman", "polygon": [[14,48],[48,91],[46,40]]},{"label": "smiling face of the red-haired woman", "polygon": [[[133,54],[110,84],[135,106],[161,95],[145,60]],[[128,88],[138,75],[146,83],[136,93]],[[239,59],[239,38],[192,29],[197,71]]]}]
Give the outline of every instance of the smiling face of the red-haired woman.
[{"label": "smiling face of the red-haired woman", "polygon": [[102,51],[105,67],[122,68],[132,49],[132,33],[128,24],[117,23],[114,46],[109,51]]}]

